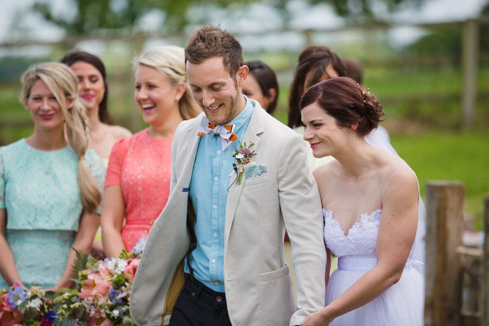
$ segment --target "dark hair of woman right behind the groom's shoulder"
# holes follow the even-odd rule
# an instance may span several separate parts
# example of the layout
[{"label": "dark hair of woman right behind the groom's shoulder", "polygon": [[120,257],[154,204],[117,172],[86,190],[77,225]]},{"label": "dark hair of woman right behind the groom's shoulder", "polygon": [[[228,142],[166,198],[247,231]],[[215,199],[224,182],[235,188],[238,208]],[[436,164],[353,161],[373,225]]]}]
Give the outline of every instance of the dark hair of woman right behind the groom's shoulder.
[{"label": "dark hair of woman right behind the groom's shoulder", "polygon": [[266,112],[272,114],[277,107],[277,100],[279,99],[279,84],[277,83],[275,72],[261,60],[247,61],[244,65],[250,69],[249,73],[255,77],[264,96],[269,97],[270,89],[275,90],[275,98],[266,108]]}]

